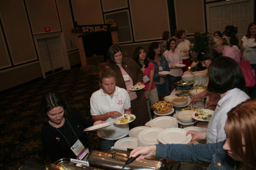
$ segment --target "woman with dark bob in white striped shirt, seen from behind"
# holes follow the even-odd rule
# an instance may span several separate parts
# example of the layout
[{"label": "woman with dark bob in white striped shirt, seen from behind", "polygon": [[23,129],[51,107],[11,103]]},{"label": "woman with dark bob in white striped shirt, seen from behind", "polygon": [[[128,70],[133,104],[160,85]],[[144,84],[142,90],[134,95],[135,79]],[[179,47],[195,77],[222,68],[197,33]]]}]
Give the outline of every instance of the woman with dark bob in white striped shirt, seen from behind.
[{"label": "woman with dark bob in white striped shirt, seen from behind", "polygon": [[[224,131],[227,113],[249,96],[243,91],[245,81],[238,63],[230,57],[217,57],[209,66],[209,83],[207,90],[220,94],[221,99],[206,132],[189,131],[192,140],[207,139],[207,143],[216,143],[226,139]],[[243,114],[243,113],[241,113]]]}]

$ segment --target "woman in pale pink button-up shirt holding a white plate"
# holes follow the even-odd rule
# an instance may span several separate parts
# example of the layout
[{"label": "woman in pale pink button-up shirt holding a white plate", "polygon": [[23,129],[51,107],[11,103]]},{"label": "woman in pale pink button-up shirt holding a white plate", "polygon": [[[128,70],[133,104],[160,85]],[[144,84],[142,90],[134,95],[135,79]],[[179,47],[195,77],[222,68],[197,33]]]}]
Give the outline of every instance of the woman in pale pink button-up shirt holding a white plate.
[{"label": "woman in pale pink button-up shirt holding a white plate", "polygon": [[182,67],[177,67],[177,64],[182,64],[181,51],[176,48],[176,39],[171,38],[167,43],[167,50],[164,51],[163,56],[168,61],[170,68],[170,76],[168,82],[170,85],[171,92],[175,88],[175,83],[182,80]]}]

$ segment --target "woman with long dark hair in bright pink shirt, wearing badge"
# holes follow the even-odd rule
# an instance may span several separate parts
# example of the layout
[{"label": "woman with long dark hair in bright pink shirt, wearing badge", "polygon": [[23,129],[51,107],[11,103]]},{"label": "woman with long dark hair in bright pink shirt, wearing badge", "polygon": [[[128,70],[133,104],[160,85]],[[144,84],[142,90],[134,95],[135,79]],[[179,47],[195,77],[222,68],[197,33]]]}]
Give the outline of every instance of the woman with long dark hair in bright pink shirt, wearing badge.
[{"label": "woman with long dark hair in bright pink shirt, wearing badge", "polygon": [[142,83],[145,85],[144,94],[148,104],[149,117],[151,116],[150,106],[159,101],[158,93],[154,83],[155,66],[148,61],[146,51],[142,47],[137,47],[134,50],[133,58],[141,67],[143,72]]}]

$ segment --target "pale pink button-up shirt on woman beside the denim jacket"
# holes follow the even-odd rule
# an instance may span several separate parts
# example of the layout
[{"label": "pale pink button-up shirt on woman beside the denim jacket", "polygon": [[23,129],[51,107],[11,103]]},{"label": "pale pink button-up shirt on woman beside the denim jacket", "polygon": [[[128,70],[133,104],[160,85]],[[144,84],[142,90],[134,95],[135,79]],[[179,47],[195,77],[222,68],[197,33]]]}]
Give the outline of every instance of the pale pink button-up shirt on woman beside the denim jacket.
[{"label": "pale pink button-up shirt on woman beside the denim jacket", "polygon": [[[172,50],[166,50],[163,53],[163,56],[166,58],[168,61],[168,65],[170,66],[175,66],[176,64],[182,64],[182,56],[181,56],[181,51],[177,48],[174,49],[174,52]],[[171,76],[182,76],[182,69],[170,69],[170,75]]]}]

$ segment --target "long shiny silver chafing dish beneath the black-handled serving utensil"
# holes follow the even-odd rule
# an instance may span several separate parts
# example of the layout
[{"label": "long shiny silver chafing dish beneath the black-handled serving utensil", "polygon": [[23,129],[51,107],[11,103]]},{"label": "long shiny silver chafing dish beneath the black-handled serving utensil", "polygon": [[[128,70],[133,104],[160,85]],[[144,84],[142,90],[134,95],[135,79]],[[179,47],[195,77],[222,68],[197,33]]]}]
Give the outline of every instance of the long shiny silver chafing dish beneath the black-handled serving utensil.
[{"label": "long shiny silver chafing dish beneath the black-handled serving utensil", "polygon": [[[88,156],[90,166],[103,170],[121,170],[130,151],[110,149],[107,152],[92,150]],[[143,159],[125,166],[124,170],[164,170],[165,164],[158,160]]]}]

